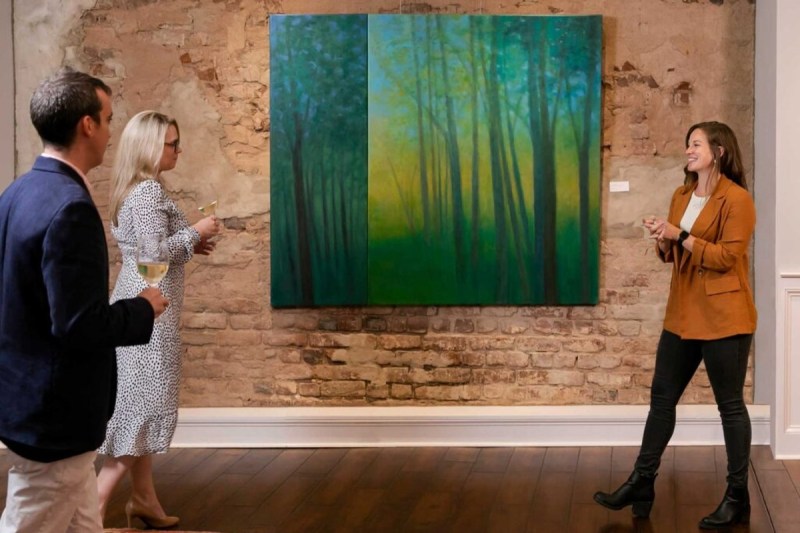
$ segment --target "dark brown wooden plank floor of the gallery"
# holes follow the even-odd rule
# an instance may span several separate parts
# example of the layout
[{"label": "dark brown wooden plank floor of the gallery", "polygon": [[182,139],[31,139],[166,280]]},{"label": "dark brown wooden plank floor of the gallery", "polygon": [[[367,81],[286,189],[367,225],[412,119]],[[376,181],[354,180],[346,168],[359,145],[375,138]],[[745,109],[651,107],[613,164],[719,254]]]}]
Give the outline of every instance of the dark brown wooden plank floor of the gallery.
[{"label": "dark brown wooden plank floor of the gallery", "polygon": [[[176,449],[156,456],[161,501],[182,529],[225,533],[698,531],[725,489],[722,447],[664,456],[650,520],[607,511],[596,490],[628,476],[636,448]],[[0,451],[5,501],[5,451]],[[800,531],[800,461],[753,449],[752,515],[734,531]],[[106,527],[124,527],[127,481]],[[140,527],[142,524],[138,524]]]}]

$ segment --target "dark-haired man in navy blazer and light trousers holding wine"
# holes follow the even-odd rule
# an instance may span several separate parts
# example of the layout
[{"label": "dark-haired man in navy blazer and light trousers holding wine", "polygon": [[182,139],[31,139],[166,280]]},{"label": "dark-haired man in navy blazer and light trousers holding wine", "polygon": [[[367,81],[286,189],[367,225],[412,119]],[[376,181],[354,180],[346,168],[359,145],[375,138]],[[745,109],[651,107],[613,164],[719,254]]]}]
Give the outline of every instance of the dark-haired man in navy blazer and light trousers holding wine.
[{"label": "dark-haired man in navy blazer and light trousers holding wine", "polygon": [[86,173],[110,138],[111,89],[63,69],[31,98],[44,143],[0,196],[0,533],[102,531],[94,473],[116,395],[115,347],[147,343],[158,289],[108,303],[108,249]]}]

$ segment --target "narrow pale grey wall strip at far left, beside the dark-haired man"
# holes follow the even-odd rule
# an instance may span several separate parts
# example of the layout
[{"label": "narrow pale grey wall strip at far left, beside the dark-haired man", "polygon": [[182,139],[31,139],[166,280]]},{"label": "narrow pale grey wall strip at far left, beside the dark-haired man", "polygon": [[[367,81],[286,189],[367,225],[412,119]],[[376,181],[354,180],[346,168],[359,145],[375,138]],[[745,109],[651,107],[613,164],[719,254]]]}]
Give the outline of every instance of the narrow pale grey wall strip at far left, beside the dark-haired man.
[{"label": "narrow pale grey wall strip at far left, beside the dark-haired man", "polygon": [[14,179],[13,1],[0,0],[0,192]]}]

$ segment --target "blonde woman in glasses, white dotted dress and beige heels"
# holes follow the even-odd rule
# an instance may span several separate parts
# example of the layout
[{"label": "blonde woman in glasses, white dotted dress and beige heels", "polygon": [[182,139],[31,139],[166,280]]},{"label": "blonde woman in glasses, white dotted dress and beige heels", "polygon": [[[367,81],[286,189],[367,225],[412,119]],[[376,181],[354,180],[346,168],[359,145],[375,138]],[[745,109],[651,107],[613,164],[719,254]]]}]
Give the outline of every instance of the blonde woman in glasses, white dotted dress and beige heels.
[{"label": "blonde woman in glasses, white dotted dress and beige heels", "polygon": [[152,454],[169,449],[178,419],[181,372],[179,322],[183,304],[183,265],[194,254],[207,255],[219,233],[216,217],[190,226],[164,192],[161,172],[175,168],[180,130],[174,119],[155,111],[133,117],[120,138],[111,184],[111,232],[122,252],[122,269],[112,301],[139,294],[147,284],[136,269],[139,235],[168,236],[169,271],[159,288],[169,307],[155,324],[150,343],[117,349],[117,401],[99,449],[107,457],[97,477],[101,516],[117,483],[130,472],[133,487],[125,506],[128,522],[138,517],[149,527],[171,527],[153,486]]}]

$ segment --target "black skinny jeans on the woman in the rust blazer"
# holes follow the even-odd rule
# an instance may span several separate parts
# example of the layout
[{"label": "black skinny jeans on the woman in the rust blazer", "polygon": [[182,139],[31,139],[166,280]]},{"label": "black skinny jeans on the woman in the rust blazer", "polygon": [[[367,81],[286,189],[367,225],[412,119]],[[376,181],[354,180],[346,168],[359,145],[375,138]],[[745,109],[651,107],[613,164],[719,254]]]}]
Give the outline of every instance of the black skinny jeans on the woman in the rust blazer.
[{"label": "black skinny jeans on the woman in the rust blazer", "polygon": [[728,454],[728,484],[747,487],[752,431],[744,403],[744,378],[752,335],[734,335],[711,341],[683,340],[662,331],[656,352],[656,369],[650,391],[650,412],[635,470],[656,474],[661,455],[675,430],[675,406],[704,361],[714,399],[722,418]]}]

